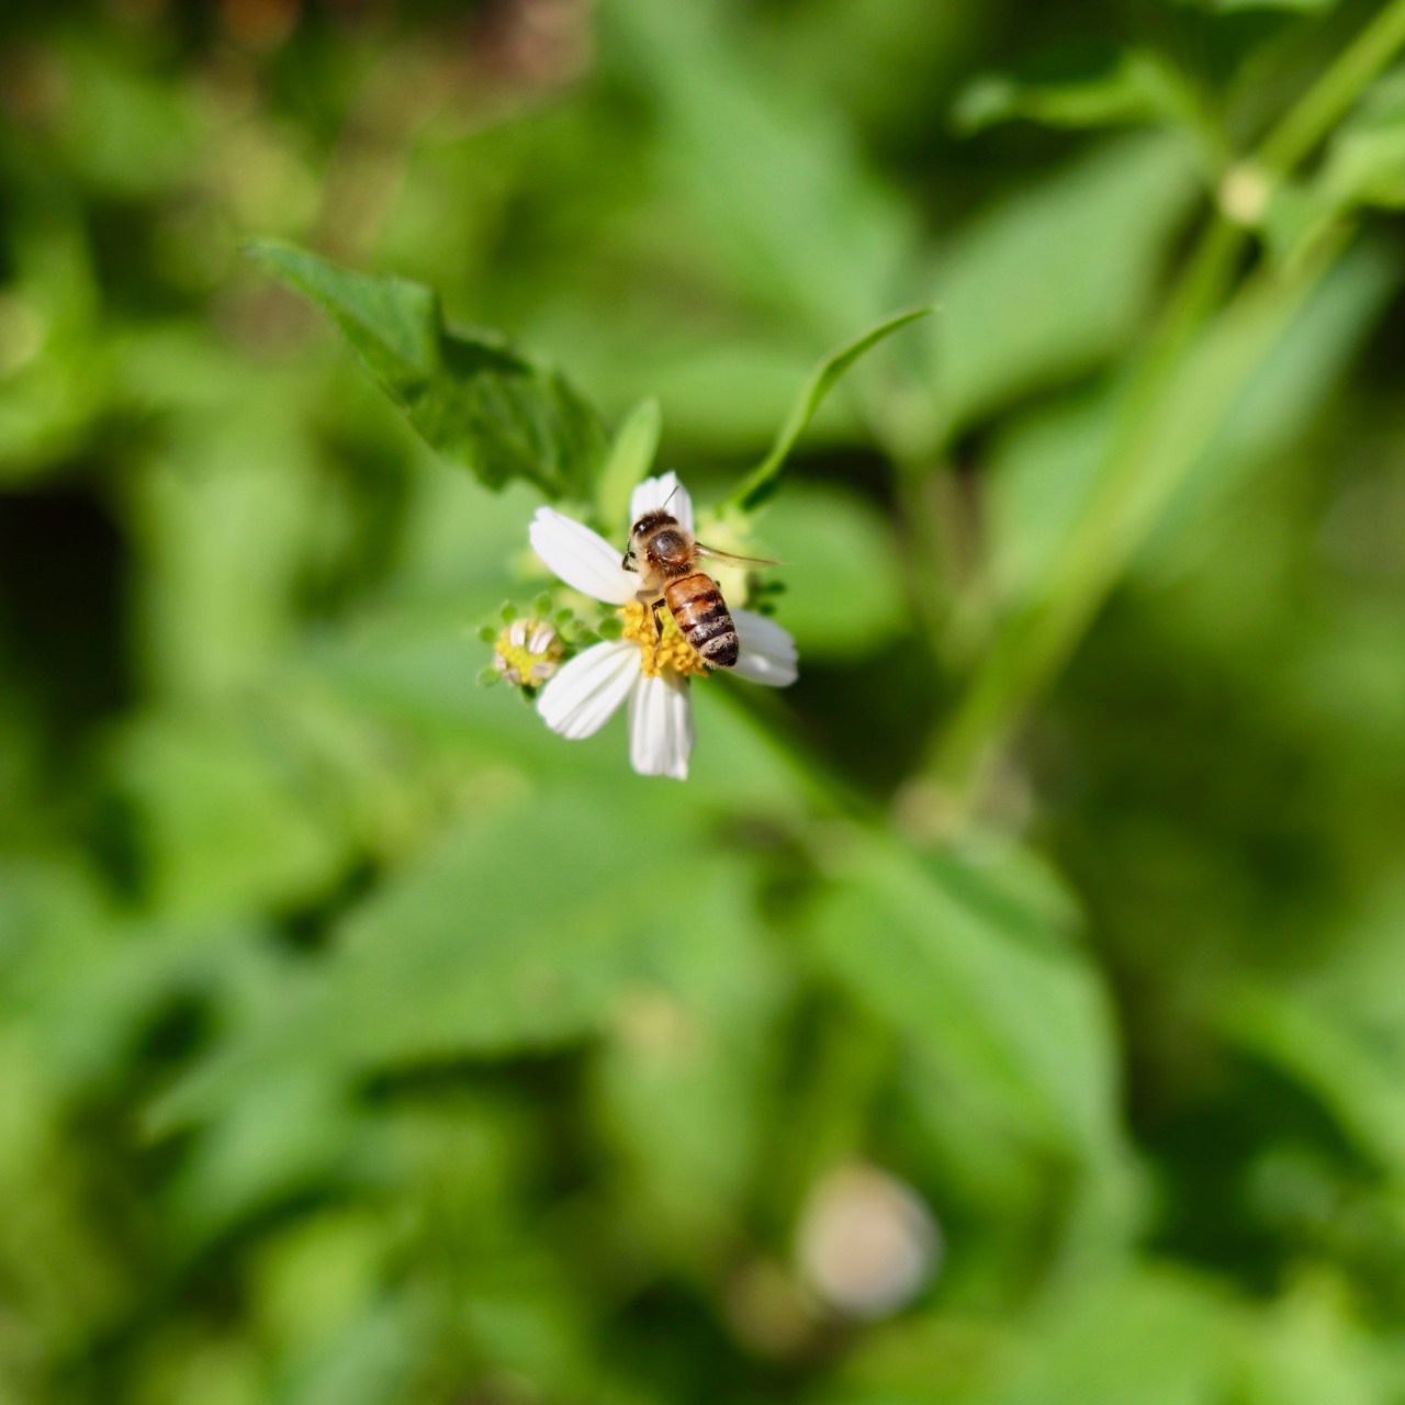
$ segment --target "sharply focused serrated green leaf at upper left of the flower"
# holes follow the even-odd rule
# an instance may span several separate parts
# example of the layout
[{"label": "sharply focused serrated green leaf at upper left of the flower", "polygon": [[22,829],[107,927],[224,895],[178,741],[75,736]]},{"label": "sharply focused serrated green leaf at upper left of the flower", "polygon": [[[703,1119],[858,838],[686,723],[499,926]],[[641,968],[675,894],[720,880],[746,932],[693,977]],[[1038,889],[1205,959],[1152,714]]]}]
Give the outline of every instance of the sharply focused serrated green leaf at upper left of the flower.
[{"label": "sharply focused serrated green leaf at upper left of the flower", "polygon": [[589,496],[606,431],[559,372],[495,336],[450,330],[437,295],[420,284],[354,273],[284,243],[256,243],[251,253],[336,322],[445,458],[495,490],[524,478],[551,497]]}]

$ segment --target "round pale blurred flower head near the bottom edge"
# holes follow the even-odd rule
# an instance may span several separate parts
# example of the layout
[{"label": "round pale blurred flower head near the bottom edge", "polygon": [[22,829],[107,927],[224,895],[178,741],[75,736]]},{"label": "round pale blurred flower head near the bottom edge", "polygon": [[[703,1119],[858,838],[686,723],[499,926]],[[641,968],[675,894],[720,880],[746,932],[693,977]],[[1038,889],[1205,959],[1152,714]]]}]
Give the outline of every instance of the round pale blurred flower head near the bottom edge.
[{"label": "round pale blurred flower head near the bottom edge", "polygon": [[905,1182],[877,1166],[842,1166],[811,1193],[797,1241],[799,1270],[829,1307],[881,1318],[905,1307],[936,1272],[941,1234]]}]

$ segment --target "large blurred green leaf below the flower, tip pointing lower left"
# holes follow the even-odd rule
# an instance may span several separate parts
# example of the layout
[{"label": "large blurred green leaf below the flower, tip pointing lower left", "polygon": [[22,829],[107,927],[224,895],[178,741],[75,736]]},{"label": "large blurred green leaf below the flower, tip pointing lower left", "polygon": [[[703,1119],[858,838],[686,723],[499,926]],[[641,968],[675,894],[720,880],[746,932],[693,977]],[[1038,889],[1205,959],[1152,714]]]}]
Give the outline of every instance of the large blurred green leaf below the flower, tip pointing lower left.
[{"label": "large blurred green leaf below the flower, tip pointing lower left", "polygon": [[651,933],[632,875],[672,830],[656,825],[645,844],[642,806],[513,795],[509,787],[353,910],[316,986],[266,1012],[173,1092],[163,1116],[209,1111],[288,1062],[346,1078],[502,1058],[597,1030]]}]

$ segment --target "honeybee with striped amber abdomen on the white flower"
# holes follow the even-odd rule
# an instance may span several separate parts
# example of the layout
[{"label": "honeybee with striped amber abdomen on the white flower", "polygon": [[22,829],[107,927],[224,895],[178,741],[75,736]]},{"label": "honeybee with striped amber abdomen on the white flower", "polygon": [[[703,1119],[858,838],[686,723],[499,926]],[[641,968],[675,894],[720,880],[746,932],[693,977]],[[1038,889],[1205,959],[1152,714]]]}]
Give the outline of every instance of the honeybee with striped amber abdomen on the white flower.
[{"label": "honeybee with striped amber abdomen on the white flower", "polygon": [[666,507],[656,507],[629,528],[622,566],[643,577],[638,599],[653,606],[655,628],[659,607],[667,606],[679,632],[702,662],[714,669],[731,669],[740,643],[718,583],[697,569],[698,561],[708,556],[743,566],[778,565],[704,547]]}]

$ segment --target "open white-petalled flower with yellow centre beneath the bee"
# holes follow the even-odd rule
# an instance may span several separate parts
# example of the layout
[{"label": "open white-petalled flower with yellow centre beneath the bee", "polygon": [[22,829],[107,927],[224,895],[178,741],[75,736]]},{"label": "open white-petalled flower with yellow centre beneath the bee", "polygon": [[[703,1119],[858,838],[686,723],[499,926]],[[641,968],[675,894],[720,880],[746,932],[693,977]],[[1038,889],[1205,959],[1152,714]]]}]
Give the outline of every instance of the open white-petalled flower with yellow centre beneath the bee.
[{"label": "open white-petalled flower with yellow centre beneath the bee", "polygon": [[[636,520],[667,504],[693,530],[693,500],[677,475],[645,479],[629,500]],[[620,606],[624,638],[597,643],[566,663],[537,700],[537,711],[570,740],[592,736],[621,704],[629,705],[629,760],[641,776],[686,780],[693,750],[688,679],[708,669],[681,636],[667,610],[636,599],[641,577],[621,565],[622,551],[551,507],[538,507],[528,532],[532,549],[573,590]],[[783,688],[795,681],[795,641],[773,620],[733,610],[740,655],[729,670]]]}]

